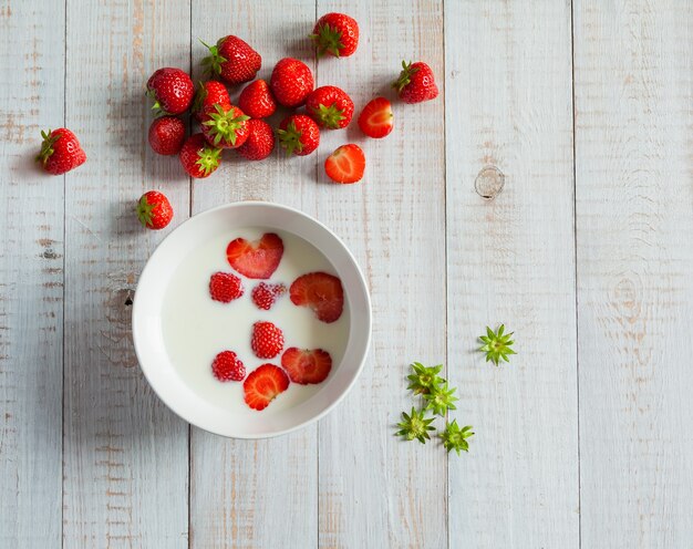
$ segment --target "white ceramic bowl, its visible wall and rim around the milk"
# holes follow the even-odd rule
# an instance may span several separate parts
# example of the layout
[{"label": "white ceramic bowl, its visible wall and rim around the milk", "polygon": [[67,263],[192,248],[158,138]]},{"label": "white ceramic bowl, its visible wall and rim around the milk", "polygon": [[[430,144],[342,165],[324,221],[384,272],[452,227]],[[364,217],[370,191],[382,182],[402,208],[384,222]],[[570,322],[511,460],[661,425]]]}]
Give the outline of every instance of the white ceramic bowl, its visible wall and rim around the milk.
[{"label": "white ceramic bowl, its visible wall and rim around the milk", "polygon": [[[320,250],[337,270],[350,310],[343,358],[333,364],[323,387],[281,413],[272,406],[242,421],[206,402],[188,387],[164,345],[162,310],[176,268],[201,242],[235,228],[267,227],[292,232]],[[344,244],[324,225],[296,209],[270,203],[235,203],[198,214],[168,235],[147,261],[135,292],[133,339],[139,366],[156,394],[185,421],[224,436],[262,438],[281,435],[319,419],[349,392],[363,369],[371,338],[371,301],[365,280]]]}]

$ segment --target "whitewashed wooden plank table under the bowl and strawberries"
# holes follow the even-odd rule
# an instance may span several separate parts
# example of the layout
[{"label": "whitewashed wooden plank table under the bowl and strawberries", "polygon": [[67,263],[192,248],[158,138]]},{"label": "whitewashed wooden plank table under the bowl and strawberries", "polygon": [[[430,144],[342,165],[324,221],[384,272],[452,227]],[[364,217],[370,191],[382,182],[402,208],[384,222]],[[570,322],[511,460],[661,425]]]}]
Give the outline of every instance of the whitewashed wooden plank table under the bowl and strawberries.
[{"label": "whitewashed wooden plank table under the bowl and strawberries", "polygon": [[[317,15],[361,25],[314,63]],[[319,153],[229,160],[190,182],[146,145],[148,75],[234,33],[268,77],[301,56],[360,108],[402,58],[437,101]],[[0,0],[0,547],[693,547],[693,7],[686,0]],[[89,162],[33,166],[68,126]],[[354,124],[355,126],[355,124]],[[364,142],[355,186],[322,162]],[[505,174],[493,201],[485,167]],[[132,214],[164,189],[173,226],[266,199],[332,227],[372,290],[358,386],[269,441],[190,428],[153,394],[130,334],[138,273],[169,229]],[[496,369],[487,323],[517,333]],[[413,360],[443,362],[468,455],[393,436]]]}]

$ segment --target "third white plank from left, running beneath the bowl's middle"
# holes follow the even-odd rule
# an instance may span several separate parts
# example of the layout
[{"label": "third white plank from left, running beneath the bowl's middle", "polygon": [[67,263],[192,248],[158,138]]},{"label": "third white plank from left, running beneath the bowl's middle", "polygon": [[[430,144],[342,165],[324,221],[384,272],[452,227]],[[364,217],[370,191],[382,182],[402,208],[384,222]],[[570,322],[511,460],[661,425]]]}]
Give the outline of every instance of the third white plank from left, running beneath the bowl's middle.
[{"label": "third white plank from left, running beneath the bowl's middle", "polygon": [[[269,82],[281,58],[314,68],[306,35],[313,1],[196,0],[193,3],[193,61],[211,43],[236,34],[262,55],[259,77]],[[231,87],[235,102],[242,86]],[[283,114],[286,112],[282,111]],[[282,114],[271,118],[276,125]],[[236,200],[262,199],[319,215],[317,155],[286,158],[283,151],[250,163],[225,153],[223,166],[193,184],[193,213]],[[320,217],[320,216],[319,216]],[[190,547],[310,548],[318,545],[317,427],[268,441],[232,441],[193,428],[190,439]]]}]

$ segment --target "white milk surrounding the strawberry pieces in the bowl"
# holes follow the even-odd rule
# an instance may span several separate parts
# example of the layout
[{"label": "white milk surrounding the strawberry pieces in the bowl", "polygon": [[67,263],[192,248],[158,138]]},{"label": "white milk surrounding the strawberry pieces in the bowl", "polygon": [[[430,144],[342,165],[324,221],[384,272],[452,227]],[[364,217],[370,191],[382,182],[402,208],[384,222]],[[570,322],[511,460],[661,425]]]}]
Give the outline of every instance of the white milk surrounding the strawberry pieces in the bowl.
[{"label": "white milk surrounding the strawberry pieces in the bowl", "polygon": [[[248,279],[235,271],[226,257],[228,244],[236,238],[259,240],[275,232],[283,242],[283,255],[277,270],[268,280]],[[214,301],[209,294],[209,278],[215,272],[231,272],[242,280],[244,294],[229,302]],[[302,274],[323,271],[338,276],[328,259],[311,244],[293,234],[263,228],[229,230],[200,245],[180,263],[166,289],[162,311],[162,330],[166,351],[186,385],[204,400],[234,412],[262,414],[288,410],[320,391],[342,361],[349,338],[349,302],[331,323],[318,318],[308,307],[297,307],[289,298],[291,283]],[[260,282],[283,283],[287,292],[278,297],[270,310],[259,309],[251,299]],[[265,411],[251,410],[244,401],[242,382],[220,382],[211,373],[215,356],[232,351],[246,367],[246,376],[260,364],[281,366],[281,353],[275,359],[258,359],[250,346],[252,325],[268,321],[283,331],[285,350],[322,349],[332,358],[332,370],[319,384],[290,383]]]}]

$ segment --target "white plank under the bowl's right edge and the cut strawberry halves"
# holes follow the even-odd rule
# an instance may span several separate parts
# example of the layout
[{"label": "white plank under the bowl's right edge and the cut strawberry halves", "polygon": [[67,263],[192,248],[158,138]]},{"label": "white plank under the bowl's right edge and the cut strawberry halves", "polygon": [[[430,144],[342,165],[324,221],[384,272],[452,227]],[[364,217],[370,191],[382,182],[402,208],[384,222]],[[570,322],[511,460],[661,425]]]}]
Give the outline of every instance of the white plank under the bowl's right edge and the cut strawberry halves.
[{"label": "white plank under the bowl's right edge and the cut strawberry halves", "polygon": [[[327,155],[359,144],[366,174],[353,186],[331,184],[319,169],[323,219],[363,268],[372,294],[373,339],[365,369],[345,401],[320,423],[320,547],[445,548],[446,455],[394,436],[408,363],[445,362],[445,164],[443,6],[318,1],[317,15],[353,15],[359,49],[318,64],[318,84],[348,91],[359,112],[385,95],[395,128],[384,139],[363,136],[354,122],[324,132]],[[403,56],[424,60],[439,77],[441,95],[420,105],[396,101],[390,83]]]}]

